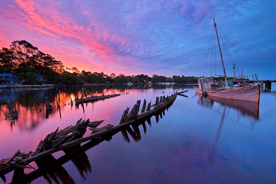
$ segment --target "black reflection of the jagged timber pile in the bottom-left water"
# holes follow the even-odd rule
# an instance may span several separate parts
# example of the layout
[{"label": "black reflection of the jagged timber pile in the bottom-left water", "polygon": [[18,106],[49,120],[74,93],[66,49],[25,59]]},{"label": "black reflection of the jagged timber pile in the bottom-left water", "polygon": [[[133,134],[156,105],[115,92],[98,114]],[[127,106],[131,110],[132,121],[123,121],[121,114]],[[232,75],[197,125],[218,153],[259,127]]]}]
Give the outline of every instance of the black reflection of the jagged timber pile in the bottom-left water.
[{"label": "black reflection of the jagged timber pile in the bottom-left water", "polygon": [[85,175],[92,172],[92,166],[90,165],[85,151],[94,146],[89,146],[89,144],[87,146],[87,144],[83,146],[77,145],[70,149],[64,150],[65,155],[58,159],[55,159],[52,155],[49,155],[43,159],[35,161],[38,169],[35,169],[35,171],[29,174],[24,174],[23,168],[15,169],[11,183],[30,183],[41,176],[43,176],[49,184],[59,184],[60,181],[64,184],[76,183],[64,167],[62,167],[62,164],[67,163],[69,160],[74,163],[81,177],[85,179]]}]

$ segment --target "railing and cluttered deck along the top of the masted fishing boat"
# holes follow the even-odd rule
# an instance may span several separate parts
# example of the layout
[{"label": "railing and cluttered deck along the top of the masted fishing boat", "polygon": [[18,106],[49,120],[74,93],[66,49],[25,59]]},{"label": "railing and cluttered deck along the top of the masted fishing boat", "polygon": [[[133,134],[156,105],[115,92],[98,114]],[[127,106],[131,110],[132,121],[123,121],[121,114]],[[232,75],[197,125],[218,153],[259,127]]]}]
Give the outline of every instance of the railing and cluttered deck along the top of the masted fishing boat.
[{"label": "railing and cluttered deck along the top of the masted fishing boat", "polygon": [[[256,83],[259,84],[260,83],[256,74],[234,77],[233,79],[227,80],[226,82],[229,85],[228,89],[230,89],[230,90],[232,90],[233,87],[243,88],[244,86],[248,85],[249,83],[251,83],[251,84],[256,84]],[[225,81],[215,82],[215,87],[214,87],[214,84],[209,84],[209,82],[208,82],[208,84],[204,84],[204,91],[215,91],[215,90],[221,91],[223,89],[226,89],[225,86],[223,86],[223,84],[225,84],[226,82]],[[230,85],[229,82],[232,82],[233,84]]]}]

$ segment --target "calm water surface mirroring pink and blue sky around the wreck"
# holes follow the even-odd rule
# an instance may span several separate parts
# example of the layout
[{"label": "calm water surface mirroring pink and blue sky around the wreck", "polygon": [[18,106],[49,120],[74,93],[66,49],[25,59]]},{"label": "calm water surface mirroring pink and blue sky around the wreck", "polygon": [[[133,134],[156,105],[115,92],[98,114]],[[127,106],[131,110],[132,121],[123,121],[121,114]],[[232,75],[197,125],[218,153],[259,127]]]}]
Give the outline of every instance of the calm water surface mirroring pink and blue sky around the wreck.
[{"label": "calm water surface mirroring pink and blue sky around the wreck", "polygon": [[[192,86],[87,87],[88,96],[92,90],[95,95],[122,95],[83,106],[68,105],[81,88],[0,89],[0,158],[18,149],[34,151],[47,134],[80,118],[105,120],[98,127],[118,125],[124,109],[137,100],[155,103],[156,96],[189,90],[159,114],[33,162],[35,170],[9,172],[0,183],[275,183],[276,97],[262,92],[259,105],[203,98]],[[60,109],[54,107],[58,90]],[[49,114],[44,96],[54,107]],[[8,99],[19,112],[14,123],[5,120]]]}]

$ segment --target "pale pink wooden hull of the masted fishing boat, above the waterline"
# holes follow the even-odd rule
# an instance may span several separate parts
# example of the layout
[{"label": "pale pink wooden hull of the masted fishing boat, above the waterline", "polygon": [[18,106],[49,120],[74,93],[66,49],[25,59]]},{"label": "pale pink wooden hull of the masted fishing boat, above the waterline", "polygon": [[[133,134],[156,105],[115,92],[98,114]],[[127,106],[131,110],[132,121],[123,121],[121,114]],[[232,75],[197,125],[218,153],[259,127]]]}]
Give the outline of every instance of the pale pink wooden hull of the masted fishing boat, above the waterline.
[{"label": "pale pink wooden hull of the masted fishing boat, above the waterline", "polygon": [[[202,94],[203,91],[200,89],[196,89],[196,92]],[[243,88],[231,88],[227,90],[211,90],[206,91],[209,96],[220,97],[220,98],[230,98],[236,100],[248,100],[248,101],[256,101],[260,100],[260,91],[261,86],[259,84],[255,84],[249,87]]]}]

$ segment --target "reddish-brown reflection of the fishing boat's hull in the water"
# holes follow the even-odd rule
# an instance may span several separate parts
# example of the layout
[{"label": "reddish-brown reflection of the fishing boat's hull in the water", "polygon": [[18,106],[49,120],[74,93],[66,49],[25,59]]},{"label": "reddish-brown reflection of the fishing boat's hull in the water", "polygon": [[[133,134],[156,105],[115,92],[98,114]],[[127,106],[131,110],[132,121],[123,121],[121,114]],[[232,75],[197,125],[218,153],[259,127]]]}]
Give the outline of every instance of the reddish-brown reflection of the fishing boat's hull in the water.
[{"label": "reddish-brown reflection of the fishing boat's hull in the water", "polygon": [[240,111],[242,114],[247,114],[249,116],[253,116],[254,118],[259,118],[259,103],[255,101],[246,101],[246,100],[236,100],[236,99],[229,99],[229,98],[218,98],[215,96],[207,96],[206,98],[202,97],[201,94],[196,93],[199,95],[198,102],[200,104],[205,105],[213,105],[214,101],[220,104],[226,105],[228,107],[233,107]]}]

